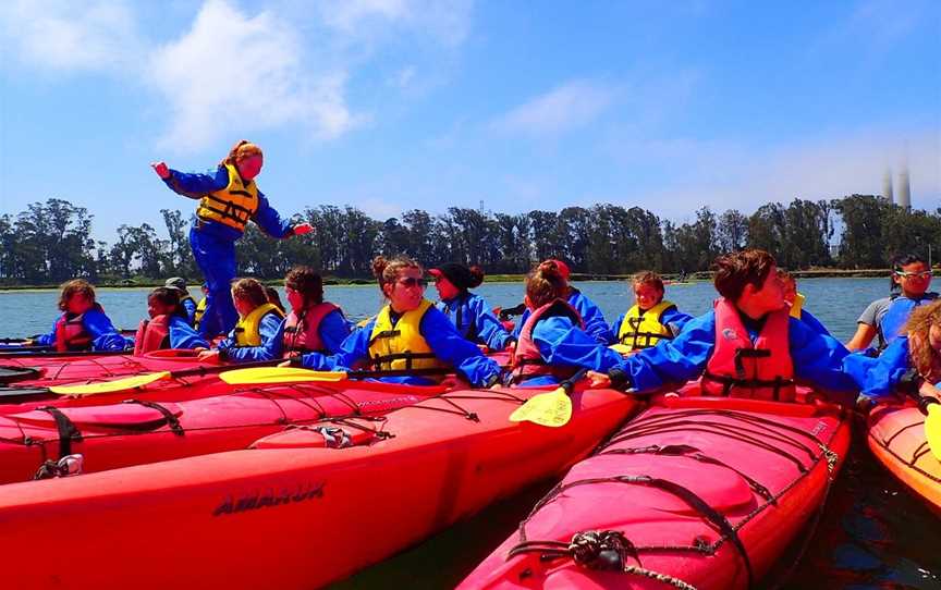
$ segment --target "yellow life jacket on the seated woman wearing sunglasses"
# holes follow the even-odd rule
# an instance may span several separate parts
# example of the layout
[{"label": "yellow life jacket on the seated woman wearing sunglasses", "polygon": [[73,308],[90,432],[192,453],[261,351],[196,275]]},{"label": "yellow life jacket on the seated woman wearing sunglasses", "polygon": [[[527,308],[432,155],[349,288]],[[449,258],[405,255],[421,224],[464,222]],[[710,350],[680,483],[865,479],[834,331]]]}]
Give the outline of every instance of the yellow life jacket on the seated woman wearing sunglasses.
[{"label": "yellow life jacket on the seated woman wearing sunglasses", "polygon": [[431,302],[421,299],[416,309],[403,314],[394,324],[391,306],[383,307],[369,335],[370,368],[388,371],[448,367],[435,355],[419,330],[421,318],[431,307]]}]

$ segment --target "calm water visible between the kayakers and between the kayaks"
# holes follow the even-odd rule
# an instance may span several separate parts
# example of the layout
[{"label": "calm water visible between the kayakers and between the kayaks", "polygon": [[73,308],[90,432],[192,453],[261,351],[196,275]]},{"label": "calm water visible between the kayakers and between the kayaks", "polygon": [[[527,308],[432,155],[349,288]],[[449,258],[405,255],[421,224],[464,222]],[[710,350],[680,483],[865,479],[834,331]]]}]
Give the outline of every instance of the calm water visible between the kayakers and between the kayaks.
[{"label": "calm water visible between the kayakers and between the kayaks", "polygon": [[[885,295],[885,279],[810,279],[799,283],[807,309],[841,341],[875,298]],[[627,305],[625,283],[591,282],[577,286],[614,319]],[[517,284],[485,284],[477,290],[493,305],[522,299]],[[429,296],[433,295],[429,288]],[[146,314],[147,290],[100,291],[99,302],[120,328],[134,328]],[[198,296],[196,290],[193,295]],[[668,287],[668,298],[692,315],[709,309],[709,283]],[[351,318],[378,309],[375,286],[328,286],[327,298]],[[282,294],[283,299],[283,294]],[[48,331],[56,316],[53,292],[0,293],[0,336]],[[286,300],[286,299],[285,299]],[[941,588],[941,519],[913,499],[869,457],[857,429],[856,441],[827,513],[790,580],[791,588]],[[540,483],[506,499],[387,562],[337,585],[338,588],[449,588],[459,582],[514,529],[549,488]]]}]

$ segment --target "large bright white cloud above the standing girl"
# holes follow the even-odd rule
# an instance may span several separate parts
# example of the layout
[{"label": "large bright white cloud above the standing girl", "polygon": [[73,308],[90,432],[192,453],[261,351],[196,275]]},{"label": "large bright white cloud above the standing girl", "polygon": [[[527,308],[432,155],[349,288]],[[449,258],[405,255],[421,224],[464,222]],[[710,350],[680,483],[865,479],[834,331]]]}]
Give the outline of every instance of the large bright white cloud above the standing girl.
[{"label": "large bright white cloud above the standing girl", "polygon": [[223,0],[207,1],[183,37],[157,49],[146,74],[169,106],[163,147],[198,150],[233,131],[286,124],[329,139],[356,124],[346,72],[305,61],[289,23],[246,16]]}]

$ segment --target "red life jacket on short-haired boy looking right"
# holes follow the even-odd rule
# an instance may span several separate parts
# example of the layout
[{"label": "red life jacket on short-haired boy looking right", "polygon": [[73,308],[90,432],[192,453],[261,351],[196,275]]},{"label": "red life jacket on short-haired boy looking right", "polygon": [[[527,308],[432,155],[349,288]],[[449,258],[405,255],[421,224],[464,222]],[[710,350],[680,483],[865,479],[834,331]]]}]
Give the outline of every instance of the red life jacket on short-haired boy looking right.
[{"label": "red life jacket on short-haired boy looking right", "polygon": [[790,317],[786,308],[769,314],[753,344],[735,305],[718,299],[716,348],[699,382],[702,394],[793,402]]}]

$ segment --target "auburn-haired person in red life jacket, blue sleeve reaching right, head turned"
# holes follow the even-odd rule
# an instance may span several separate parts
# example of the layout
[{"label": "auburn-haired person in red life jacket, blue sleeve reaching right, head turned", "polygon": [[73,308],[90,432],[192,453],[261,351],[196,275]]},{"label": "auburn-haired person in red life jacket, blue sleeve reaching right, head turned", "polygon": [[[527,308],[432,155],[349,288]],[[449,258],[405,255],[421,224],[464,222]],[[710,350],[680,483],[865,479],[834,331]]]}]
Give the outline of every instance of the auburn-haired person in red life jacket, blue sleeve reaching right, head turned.
[{"label": "auburn-haired person in red life jacket, blue sleeve reaching right, head turned", "polygon": [[569,283],[554,260],[547,260],[526,278],[529,310],[513,354],[510,384],[555,384],[581,368],[607,371],[621,354],[599,344],[585,331],[581,314],[565,297]]}]

